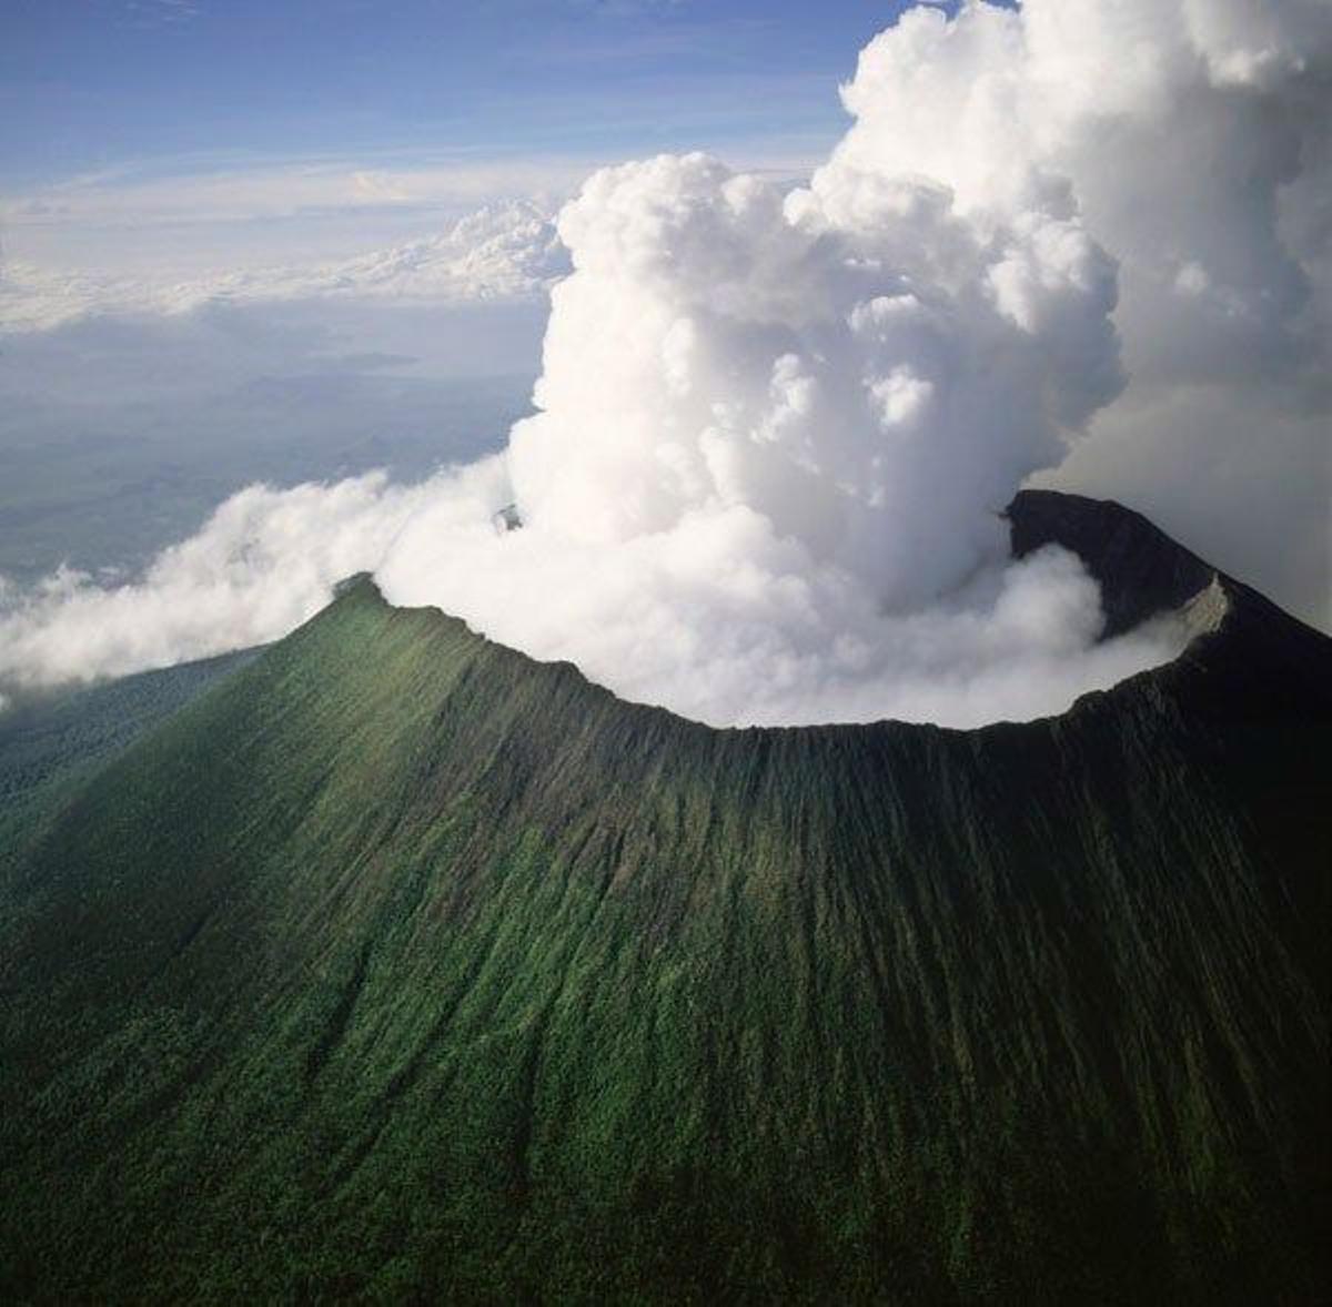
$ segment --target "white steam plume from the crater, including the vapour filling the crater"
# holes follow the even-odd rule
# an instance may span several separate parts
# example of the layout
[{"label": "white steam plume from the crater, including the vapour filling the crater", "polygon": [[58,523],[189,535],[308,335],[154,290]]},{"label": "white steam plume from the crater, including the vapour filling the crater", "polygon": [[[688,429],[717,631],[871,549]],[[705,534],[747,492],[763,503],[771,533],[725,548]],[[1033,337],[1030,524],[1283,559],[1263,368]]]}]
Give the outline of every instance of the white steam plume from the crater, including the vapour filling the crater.
[{"label": "white steam plume from the crater, including the vapour filling the crater", "polygon": [[1159,656],[1088,652],[1072,559],[1002,566],[998,510],[1120,385],[1075,214],[982,225],[831,169],[783,194],[694,154],[598,173],[559,232],[506,458],[523,530],[441,500],[389,598],[710,721],[1027,715]]}]

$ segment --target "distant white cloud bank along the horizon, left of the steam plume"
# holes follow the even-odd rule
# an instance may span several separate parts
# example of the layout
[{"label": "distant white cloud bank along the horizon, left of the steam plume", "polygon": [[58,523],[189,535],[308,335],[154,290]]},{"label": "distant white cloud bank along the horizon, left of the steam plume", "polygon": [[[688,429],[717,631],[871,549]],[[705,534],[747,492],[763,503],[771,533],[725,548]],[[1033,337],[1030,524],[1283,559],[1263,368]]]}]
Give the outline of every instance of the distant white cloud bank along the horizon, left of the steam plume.
[{"label": "distant white cloud bank along the horizon, left of the steam plume", "polygon": [[543,294],[569,272],[553,214],[527,200],[486,205],[438,236],[336,262],[220,272],[185,281],[0,269],[0,331],[36,331],[97,314],[188,313],[213,301],[256,303],[368,295],[474,303]]}]

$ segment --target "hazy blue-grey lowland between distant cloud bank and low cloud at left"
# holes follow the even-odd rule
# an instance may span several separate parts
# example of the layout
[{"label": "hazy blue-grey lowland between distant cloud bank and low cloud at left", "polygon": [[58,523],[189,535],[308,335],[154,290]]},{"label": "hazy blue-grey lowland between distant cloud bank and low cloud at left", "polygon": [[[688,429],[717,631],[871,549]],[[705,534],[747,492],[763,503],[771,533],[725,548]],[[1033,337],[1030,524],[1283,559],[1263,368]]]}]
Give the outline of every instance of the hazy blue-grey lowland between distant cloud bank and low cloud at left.
[{"label": "hazy blue-grey lowland between distant cloud bank and low cloud at left", "polygon": [[[436,335],[449,335],[438,317],[362,318],[345,333],[358,354],[309,317],[284,333],[244,309],[11,338],[0,346],[0,576],[25,587],[68,564],[131,579],[253,482],[374,468],[418,480],[497,451],[530,411],[539,317],[509,315],[503,358],[478,358],[476,333],[452,359],[370,351],[385,337],[401,347],[413,329],[437,350]],[[515,322],[530,323],[526,338]]]}]

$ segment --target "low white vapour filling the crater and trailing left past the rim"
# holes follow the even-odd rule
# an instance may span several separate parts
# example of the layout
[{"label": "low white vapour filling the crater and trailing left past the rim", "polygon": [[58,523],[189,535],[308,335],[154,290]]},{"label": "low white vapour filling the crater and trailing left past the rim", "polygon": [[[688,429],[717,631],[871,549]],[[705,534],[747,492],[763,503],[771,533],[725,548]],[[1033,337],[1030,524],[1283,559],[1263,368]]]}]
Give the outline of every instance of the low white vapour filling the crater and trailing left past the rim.
[{"label": "low white vapour filling the crater and trailing left past the rim", "polygon": [[623,550],[553,550],[537,531],[496,535],[490,515],[507,492],[501,459],[410,487],[382,475],[252,487],[136,583],[104,588],[63,568],[11,595],[0,676],[56,684],[258,644],[377,564],[405,602],[441,598],[428,580],[438,568],[450,610],[496,639],[573,655],[630,699],[721,724],[1039,716],[1171,656],[1184,635],[1164,623],[1094,644],[1095,583],[1058,550],[884,618],[854,579],[811,568],[798,542],[746,508]]}]

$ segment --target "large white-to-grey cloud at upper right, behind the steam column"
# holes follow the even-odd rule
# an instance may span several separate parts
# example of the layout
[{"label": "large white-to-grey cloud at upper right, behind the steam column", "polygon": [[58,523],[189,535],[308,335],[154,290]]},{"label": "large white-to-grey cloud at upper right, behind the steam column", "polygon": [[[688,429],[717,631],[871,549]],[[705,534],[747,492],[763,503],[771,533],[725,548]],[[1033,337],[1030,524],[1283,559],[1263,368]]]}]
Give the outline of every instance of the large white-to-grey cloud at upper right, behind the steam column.
[{"label": "large white-to-grey cloud at upper right, behind the steam column", "polygon": [[1329,85],[1324,0],[918,9],[862,53],[860,118],[822,182],[854,205],[884,172],[923,173],[978,221],[1076,214],[1119,265],[1130,386],[1044,479],[1151,510],[1320,624]]}]

